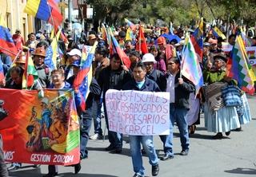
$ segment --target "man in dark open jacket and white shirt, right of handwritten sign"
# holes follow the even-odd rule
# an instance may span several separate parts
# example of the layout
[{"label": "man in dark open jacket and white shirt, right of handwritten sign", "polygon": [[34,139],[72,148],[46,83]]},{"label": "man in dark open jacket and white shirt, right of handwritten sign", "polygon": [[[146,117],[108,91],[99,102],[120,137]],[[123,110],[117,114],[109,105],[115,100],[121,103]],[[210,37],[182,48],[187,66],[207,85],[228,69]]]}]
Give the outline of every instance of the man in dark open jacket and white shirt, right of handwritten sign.
[{"label": "man in dark open jacket and white shirt, right of handwritten sign", "polygon": [[167,61],[167,85],[166,92],[170,92],[170,135],[166,136],[165,155],[162,160],[173,159],[173,134],[174,122],[178,125],[182,151],[180,155],[189,153],[189,132],[186,115],[190,109],[190,92],[195,91],[194,85],[180,74],[180,63],[177,57]]}]

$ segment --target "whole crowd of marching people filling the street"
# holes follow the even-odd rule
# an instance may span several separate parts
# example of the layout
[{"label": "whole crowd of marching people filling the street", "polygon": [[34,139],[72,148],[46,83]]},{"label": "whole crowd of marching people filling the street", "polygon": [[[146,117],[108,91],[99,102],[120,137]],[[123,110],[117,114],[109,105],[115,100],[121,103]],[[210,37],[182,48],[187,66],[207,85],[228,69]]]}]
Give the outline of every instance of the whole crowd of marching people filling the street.
[{"label": "whole crowd of marching people filling the street", "polygon": [[[90,93],[86,99],[86,110],[79,108],[80,92],[74,90],[78,116],[81,119],[80,159],[88,158],[86,148],[88,140],[101,140],[102,117],[106,119],[105,95],[108,89],[138,90],[148,92],[170,92],[170,134],[160,136],[164,155],[163,161],[174,158],[173,140],[174,126],[180,133],[180,155],[186,156],[190,151],[189,134],[196,131],[200,124],[200,115],[204,115],[207,131],[214,132],[214,139],[230,136],[233,130],[241,131],[242,124],[250,122],[250,108],[246,93],[238,88],[238,82],[226,76],[227,61],[230,53],[223,50],[224,39],[216,37],[209,30],[204,35],[202,58],[198,57],[204,85],[199,92],[196,85],[189,78],[182,76],[182,54],[186,45],[186,33],[193,32],[182,28],[169,30],[167,27],[155,28],[135,26],[128,33],[128,26],[112,28],[113,36],[123,54],[129,57],[130,65],[125,65],[118,49],[111,49],[105,33],[90,31],[88,37],[67,36],[67,40],[58,41],[58,67],[51,69],[46,65],[46,57],[50,53],[52,39],[49,35],[39,31],[30,33],[25,41],[21,31],[16,30],[13,40],[22,52],[12,59],[6,53],[0,54],[5,79],[0,81],[1,88],[22,89],[22,76],[26,64],[26,53],[30,53],[34,69],[38,72],[38,84],[31,89],[45,88],[74,88],[74,79],[81,69],[82,45],[97,45],[92,63],[93,79]],[[128,34],[127,34],[128,33]],[[235,38],[239,28],[230,33],[228,45],[235,45]],[[143,46],[146,45],[146,49]],[[113,47],[113,46],[112,46]],[[117,48],[117,46],[115,46]],[[62,52],[60,52],[62,50]],[[113,52],[115,50],[115,52]],[[15,65],[13,65],[13,62]],[[94,125],[94,135],[90,136],[90,128]],[[154,137],[156,138],[156,137]],[[122,134],[108,131],[110,145],[106,151],[122,153]],[[134,167],[134,177],[145,176],[142,165],[142,153],[149,157],[152,175],[158,175],[158,155],[154,147],[153,136],[130,136],[130,153]],[[142,144],[142,148],[141,148]],[[17,170],[21,163],[12,163],[8,171]],[[74,173],[81,169],[80,163],[74,165]],[[49,166],[51,177],[58,175],[58,167]]]}]

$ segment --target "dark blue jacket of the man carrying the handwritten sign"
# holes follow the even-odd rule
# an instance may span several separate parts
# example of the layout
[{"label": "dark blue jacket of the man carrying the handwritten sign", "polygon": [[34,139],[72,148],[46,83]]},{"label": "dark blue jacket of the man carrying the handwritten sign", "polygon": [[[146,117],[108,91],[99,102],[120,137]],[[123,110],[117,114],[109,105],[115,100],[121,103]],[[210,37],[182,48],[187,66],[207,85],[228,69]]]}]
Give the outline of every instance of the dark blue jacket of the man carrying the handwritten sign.
[{"label": "dark blue jacket of the man carrying the handwritten sign", "polygon": [[133,79],[126,83],[122,87],[123,90],[138,90],[138,91],[148,91],[148,92],[161,92],[155,81],[150,80],[145,77],[145,83],[142,85],[142,88],[138,88],[136,81]]}]

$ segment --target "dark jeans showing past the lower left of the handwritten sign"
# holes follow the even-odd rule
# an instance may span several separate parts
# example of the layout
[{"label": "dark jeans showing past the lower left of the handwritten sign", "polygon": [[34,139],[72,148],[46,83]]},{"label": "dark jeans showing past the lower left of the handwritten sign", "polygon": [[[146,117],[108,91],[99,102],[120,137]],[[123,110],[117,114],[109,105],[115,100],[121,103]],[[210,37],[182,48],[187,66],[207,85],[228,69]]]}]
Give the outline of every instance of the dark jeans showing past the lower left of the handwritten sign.
[{"label": "dark jeans showing past the lower left of the handwritten sign", "polygon": [[106,104],[104,103],[104,113],[105,113],[105,120],[106,120],[106,128],[108,130],[108,138],[110,141],[110,146],[113,148],[122,148],[122,134],[118,132],[112,132],[109,129],[109,121],[106,114]]}]

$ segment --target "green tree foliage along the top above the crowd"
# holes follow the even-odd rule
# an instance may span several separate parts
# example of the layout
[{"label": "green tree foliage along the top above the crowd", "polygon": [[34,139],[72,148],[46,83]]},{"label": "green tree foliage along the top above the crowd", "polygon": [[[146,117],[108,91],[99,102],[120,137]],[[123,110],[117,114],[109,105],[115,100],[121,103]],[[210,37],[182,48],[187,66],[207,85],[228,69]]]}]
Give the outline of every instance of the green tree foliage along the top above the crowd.
[{"label": "green tree foliage along the top above the crowd", "polygon": [[[87,0],[94,6],[95,20],[111,24],[124,23],[123,18],[133,22],[141,20],[146,24],[155,24],[161,19],[174,26],[188,25],[198,21],[201,16],[207,22],[215,19],[237,22],[243,19],[246,24],[254,24],[256,19],[256,3],[254,0]],[[143,8],[146,4],[146,8]]]}]

